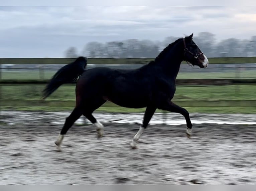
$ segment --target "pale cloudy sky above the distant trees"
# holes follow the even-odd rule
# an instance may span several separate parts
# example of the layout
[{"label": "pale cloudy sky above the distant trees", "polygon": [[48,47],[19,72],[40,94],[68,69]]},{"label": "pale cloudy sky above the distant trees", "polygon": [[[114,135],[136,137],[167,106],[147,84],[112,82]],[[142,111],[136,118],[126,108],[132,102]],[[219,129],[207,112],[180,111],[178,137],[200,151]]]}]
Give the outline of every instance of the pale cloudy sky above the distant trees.
[{"label": "pale cloudy sky above the distant trees", "polygon": [[[0,6],[0,58],[65,57],[88,42],[256,35],[254,6]],[[171,43],[171,42],[170,42]],[[86,55],[84,55],[86,56]]]}]

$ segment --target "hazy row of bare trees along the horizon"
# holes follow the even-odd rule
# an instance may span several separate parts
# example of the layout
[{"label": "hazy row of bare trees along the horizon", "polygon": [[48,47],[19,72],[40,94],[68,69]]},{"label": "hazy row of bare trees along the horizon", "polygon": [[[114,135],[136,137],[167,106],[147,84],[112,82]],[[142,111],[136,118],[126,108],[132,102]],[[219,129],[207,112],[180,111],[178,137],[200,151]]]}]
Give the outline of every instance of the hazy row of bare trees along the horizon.
[{"label": "hazy row of bare trees along the horizon", "polygon": [[[91,58],[155,58],[163,48],[180,37],[169,36],[162,42],[151,40],[128,39],[125,41],[111,41],[107,43],[89,42],[82,51],[82,55]],[[201,32],[194,36],[195,43],[207,57],[243,57],[256,56],[256,36],[251,39],[225,39],[217,42],[215,35]],[[70,47],[65,52],[66,57],[77,57],[77,49]]]}]

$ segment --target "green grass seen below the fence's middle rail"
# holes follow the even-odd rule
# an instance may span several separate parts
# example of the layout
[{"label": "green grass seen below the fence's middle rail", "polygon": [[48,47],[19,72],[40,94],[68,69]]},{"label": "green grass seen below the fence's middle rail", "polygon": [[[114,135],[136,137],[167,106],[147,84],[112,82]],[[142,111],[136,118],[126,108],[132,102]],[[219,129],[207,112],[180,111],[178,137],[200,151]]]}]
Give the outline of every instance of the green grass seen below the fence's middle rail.
[{"label": "green grass seen below the fence's middle rail", "polygon": [[[2,86],[2,99],[39,100],[44,86]],[[256,86],[233,85],[213,87],[177,87],[175,100],[255,100]],[[75,100],[75,86],[61,86],[47,100]],[[256,107],[185,107],[190,112],[206,113],[256,113]],[[61,111],[72,107],[2,107],[2,109]],[[100,107],[97,111],[144,112],[145,108]]]}]

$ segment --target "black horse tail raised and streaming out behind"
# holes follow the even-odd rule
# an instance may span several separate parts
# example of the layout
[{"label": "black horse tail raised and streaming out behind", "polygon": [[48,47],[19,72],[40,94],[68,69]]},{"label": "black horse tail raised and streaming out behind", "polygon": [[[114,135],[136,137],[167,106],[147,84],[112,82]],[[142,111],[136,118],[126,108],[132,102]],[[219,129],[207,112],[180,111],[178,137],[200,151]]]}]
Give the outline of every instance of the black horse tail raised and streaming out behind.
[{"label": "black horse tail raised and streaming out behind", "polygon": [[68,84],[76,82],[85,71],[87,65],[86,57],[79,57],[75,62],[65,65],[60,68],[56,74],[51,78],[49,84],[43,90],[43,99],[51,95],[62,84]]}]

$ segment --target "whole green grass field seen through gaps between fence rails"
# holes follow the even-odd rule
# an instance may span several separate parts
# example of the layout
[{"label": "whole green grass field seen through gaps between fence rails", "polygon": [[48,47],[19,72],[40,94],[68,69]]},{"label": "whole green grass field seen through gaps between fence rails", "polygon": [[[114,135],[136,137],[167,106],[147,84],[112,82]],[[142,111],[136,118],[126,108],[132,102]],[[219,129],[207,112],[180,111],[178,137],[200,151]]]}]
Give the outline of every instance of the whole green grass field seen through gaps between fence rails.
[{"label": "whole green grass field seen through gaps between fence rails", "polygon": [[[55,72],[45,72],[43,79],[50,79]],[[223,73],[179,73],[178,79],[210,79],[210,78],[236,78],[235,72]],[[255,78],[255,71],[241,71],[242,78]],[[2,72],[1,79],[40,79],[38,71],[31,72]],[[0,86],[2,100],[40,100],[43,85],[27,86]],[[255,100],[256,86],[232,85],[212,87],[177,87],[173,101],[175,100]],[[75,100],[75,86],[62,86],[47,100]],[[11,107],[2,107],[10,109]],[[256,113],[256,107],[185,107],[190,112],[210,113]],[[13,109],[13,108],[12,108]],[[21,110],[71,110],[71,107],[16,107]],[[129,109],[122,107],[100,107],[98,111],[109,112],[143,112],[142,109]]]}]

